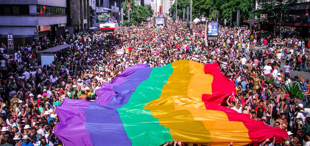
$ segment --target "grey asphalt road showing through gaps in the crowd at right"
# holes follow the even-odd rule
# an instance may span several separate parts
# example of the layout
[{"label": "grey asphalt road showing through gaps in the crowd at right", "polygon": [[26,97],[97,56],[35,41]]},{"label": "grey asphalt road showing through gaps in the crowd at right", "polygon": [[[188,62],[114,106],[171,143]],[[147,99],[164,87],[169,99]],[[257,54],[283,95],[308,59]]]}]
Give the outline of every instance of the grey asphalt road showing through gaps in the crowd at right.
[{"label": "grey asphalt road showing through gaps in the crowd at right", "polygon": [[[254,50],[253,52],[255,53],[258,49],[261,49],[261,50],[264,50],[263,46],[259,46],[259,45],[256,45],[256,47],[252,47],[252,49]],[[287,48],[287,51],[289,52],[290,51],[290,48]],[[310,53],[308,52],[308,49],[306,49],[305,51],[305,55],[306,56],[310,56]],[[250,57],[249,56],[246,56],[246,59],[249,60]],[[283,72],[284,72],[284,66],[285,66],[285,60],[281,60],[281,69]],[[310,73],[306,73],[306,72],[299,72],[299,71],[294,71],[294,70],[291,70],[290,72],[290,77],[292,79],[292,81],[294,81],[294,77],[295,76],[298,76],[298,73],[301,74],[301,76],[304,78],[304,79],[309,79],[310,80]]]}]

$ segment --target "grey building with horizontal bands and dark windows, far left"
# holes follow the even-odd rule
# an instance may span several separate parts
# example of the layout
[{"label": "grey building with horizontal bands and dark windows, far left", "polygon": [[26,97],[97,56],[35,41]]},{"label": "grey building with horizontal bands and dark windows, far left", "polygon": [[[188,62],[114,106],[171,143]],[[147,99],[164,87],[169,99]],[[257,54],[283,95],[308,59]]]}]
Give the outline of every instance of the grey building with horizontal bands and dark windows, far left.
[{"label": "grey building with horizontal bands and dark windows, far left", "polygon": [[64,35],[66,9],[66,0],[2,0],[0,42],[7,42],[8,34],[14,47]]}]

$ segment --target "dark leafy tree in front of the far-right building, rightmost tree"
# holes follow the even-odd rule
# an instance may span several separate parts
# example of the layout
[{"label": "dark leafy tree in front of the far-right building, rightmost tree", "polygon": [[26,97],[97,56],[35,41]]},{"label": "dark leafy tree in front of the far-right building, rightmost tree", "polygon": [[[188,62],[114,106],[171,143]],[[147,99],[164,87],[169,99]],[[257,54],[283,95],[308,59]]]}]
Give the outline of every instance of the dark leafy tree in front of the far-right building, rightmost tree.
[{"label": "dark leafy tree in front of the far-right building, rightmost tree", "polygon": [[274,33],[276,31],[277,23],[281,21],[288,10],[298,5],[298,0],[271,0],[260,4],[260,8],[255,10],[257,16],[260,14],[267,14],[267,21],[274,23]]}]

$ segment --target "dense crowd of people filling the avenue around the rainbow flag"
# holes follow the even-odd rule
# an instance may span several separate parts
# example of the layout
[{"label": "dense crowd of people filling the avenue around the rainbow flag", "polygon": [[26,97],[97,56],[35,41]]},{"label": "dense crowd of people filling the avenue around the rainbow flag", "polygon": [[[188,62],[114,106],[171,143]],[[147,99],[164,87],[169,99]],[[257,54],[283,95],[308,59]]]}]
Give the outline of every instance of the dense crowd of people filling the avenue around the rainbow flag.
[{"label": "dense crowd of people filling the avenue around the rainbow flag", "polygon": [[[310,110],[304,108],[308,105],[303,96],[283,90],[294,79],[303,94],[310,94],[306,77],[290,77],[292,70],[310,70],[309,57],[304,55],[305,49],[310,48],[309,38],[292,37],[291,32],[284,32],[279,38],[264,31],[252,34],[243,27],[220,27],[219,39],[208,41],[205,46],[205,24],[193,24],[192,32],[182,22],[167,24],[162,29],[145,22],[124,32],[78,32],[16,46],[13,52],[2,44],[0,143],[62,145],[53,129],[59,122],[55,110],[65,98],[95,100],[96,90],[103,83],[131,65],[162,67],[176,60],[193,60],[202,64],[217,62],[221,73],[235,82],[237,94],[227,98],[227,105],[223,106],[285,129],[289,135],[285,145],[309,146]],[[270,43],[281,43],[285,48],[270,47]],[[58,53],[50,65],[38,63],[38,51],[61,44],[72,47]],[[259,51],[252,49],[259,45],[263,46]],[[117,49],[124,53],[117,54]],[[286,66],[281,66],[281,60],[286,61]],[[261,145],[275,144],[272,137],[262,141]],[[173,143],[165,145],[169,144]],[[176,144],[193,145],[180,140]]]}]

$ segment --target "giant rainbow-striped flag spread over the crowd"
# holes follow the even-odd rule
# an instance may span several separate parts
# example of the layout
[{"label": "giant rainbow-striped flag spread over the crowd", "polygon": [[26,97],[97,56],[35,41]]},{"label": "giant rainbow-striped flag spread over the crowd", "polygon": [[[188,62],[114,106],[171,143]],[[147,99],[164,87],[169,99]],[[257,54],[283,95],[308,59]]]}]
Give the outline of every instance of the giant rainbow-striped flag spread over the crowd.
[{"label": "giant rainbow-striped flag spread over the crowd", "polygon": [[235,91],[217,64],[138,64],[103,84],[94,102],[65,99],[56,110],[55,134],[67,146],[153,146],[174,139],[242,146],[287,137],[283,129],[219,105]]}]

